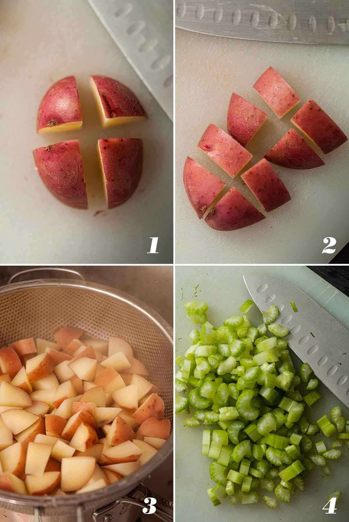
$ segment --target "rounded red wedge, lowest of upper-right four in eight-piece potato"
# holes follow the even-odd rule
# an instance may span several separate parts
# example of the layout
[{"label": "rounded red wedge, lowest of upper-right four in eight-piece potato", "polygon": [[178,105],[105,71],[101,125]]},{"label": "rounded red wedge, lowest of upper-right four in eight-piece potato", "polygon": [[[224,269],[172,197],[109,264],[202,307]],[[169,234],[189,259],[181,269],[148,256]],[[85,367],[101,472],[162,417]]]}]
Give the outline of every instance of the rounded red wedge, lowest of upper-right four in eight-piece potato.
[{"label": "rounded red wedge, lowest of upper-right four in eight-piece potato", "polygon": [[290,129],[264,158],[287,169],[315,169],[324,165],[320,156],[294,129]]}]

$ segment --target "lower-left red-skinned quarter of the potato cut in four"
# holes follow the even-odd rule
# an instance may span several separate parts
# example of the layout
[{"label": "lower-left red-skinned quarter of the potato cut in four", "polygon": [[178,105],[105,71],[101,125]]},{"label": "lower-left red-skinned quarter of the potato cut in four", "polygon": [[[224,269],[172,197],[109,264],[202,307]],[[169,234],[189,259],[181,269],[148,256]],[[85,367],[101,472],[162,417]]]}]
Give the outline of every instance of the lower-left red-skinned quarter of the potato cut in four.
[{"label": "lower-left red-skinned quarter of the potato cut in four", "polygon": [[49,191],[73,208],[88,208],[79,141],[62,141],[33,150],[34,162]]}]

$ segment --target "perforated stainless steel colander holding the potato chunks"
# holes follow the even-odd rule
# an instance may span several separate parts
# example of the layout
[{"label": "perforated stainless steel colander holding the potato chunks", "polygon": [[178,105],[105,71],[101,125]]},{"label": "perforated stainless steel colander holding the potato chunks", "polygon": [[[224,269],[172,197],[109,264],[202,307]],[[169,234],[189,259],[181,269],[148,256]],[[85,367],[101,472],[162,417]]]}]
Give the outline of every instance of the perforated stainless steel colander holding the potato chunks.
[{"label": "perforated stainless steel colander holding the potato chunks", "polygon": [[[30,271],[33,270],[37,269]],[[78,272],[75,274],[80,276]],[[27,337],[51,340],[52,329],[60,325],[82,328],[88,337],[98,339],[122,337],[148,367],[149,380],[161,389],[165,417],[173,425],[172,328],[137,299],[84,281],[82,276],[80,278],[81,281],[38,279],[0,288],[0,346]],[[157,500],[155,514],[169,522],[173,518],[172,503],[150,492],[142,482],[171,454],[172,449],[173,432],[146,465],[129,477],[91,493],[35,497],[0,491],[0,520],[124,522],[130,519],[127,510],[130,504],[146,508],[144,500],[154,497]]]}]

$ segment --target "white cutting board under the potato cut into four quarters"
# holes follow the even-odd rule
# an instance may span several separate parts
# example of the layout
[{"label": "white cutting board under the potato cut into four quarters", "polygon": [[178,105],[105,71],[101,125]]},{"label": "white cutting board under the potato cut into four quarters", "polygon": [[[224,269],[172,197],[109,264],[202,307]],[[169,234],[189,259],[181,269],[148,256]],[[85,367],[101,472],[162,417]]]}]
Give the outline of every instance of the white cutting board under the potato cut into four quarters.
[{"label": "white cutting board under the potato cut into four quarters", "polygon": [[[125,31],[127,30],[125,19]],[[136,34],[135,45],[142,35]],[[149,119],[102,129],[88,85],[90,74],[130,87]],[[75,75],[82,130],[36,134],[38,106],[54,81]],[[4,0],[0,5],[0,263],[172,263],[173,128],[126,61],[87,0]],[[144,165],[135,194],[106,209],[97,140],[143,139]],[[89,210],[59,203],[34,170],[32,149],[79,139]],[[98,210],[105,210],[94,216]],[[158,237],[158,254],[150,251]]]}]

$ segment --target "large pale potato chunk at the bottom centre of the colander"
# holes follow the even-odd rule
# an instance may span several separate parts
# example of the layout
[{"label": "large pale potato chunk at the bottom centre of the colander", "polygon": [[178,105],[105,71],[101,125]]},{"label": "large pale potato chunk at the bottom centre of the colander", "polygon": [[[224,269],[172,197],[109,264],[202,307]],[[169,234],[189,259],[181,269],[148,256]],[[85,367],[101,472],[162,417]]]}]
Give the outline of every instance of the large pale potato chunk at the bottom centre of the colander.
[{"label": "large pale potato chunk at the bottom centre of the colander", "polygon": [[77,491],[83,488],[92,477],[94,467],[94,457],[63,457],[61,465],[62,491]]}]

